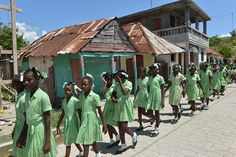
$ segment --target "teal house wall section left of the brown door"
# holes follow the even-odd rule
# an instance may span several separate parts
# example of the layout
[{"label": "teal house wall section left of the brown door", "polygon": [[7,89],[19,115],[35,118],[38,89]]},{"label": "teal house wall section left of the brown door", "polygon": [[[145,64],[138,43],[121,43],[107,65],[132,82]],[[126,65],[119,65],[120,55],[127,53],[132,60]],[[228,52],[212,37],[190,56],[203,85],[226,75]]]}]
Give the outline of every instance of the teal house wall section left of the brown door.
[{"label": "teal house wall section left of the brown door", "polygon": [[57,55],[54,58],[54,76],[57,97],[64,97],[64,89],[62,88],[64,82],[73,81],[71,72],[71,57],[72,55],[63,54]]}]

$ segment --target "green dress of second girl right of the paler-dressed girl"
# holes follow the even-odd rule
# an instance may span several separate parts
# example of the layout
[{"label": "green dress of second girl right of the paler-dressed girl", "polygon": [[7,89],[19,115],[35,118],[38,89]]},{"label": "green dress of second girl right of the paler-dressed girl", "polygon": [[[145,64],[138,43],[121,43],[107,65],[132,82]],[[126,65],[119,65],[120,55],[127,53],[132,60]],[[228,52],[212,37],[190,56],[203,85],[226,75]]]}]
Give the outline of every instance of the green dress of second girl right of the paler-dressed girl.
[{"label": "green dress of second girl right of the paler-dressed girl", "polygon": [[210,77],[212,77],[212,72],[209,69],[207,69],[206,72],[201,70],[199,72],[199,76],[200,76],[200,83],[201,83],[201,86],[204,91],[204,95],[203,95],[203,92],[201,92],[201,97],[209,98],[209,96],[210,96]]}]

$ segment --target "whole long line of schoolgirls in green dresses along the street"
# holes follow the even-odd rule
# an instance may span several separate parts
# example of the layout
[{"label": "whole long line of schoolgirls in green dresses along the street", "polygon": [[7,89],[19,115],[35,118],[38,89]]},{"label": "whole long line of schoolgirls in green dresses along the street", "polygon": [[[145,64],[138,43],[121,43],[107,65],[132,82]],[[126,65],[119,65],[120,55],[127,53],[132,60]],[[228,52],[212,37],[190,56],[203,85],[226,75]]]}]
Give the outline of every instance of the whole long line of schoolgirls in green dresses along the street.
[{"label": "whole long line of schoolgirls in green dresses along the street", "polygon": [[[224,95],[227,83],[236,81],[236,67],[223,65],[208,66],[201,63],[197,70],[190,64],[186,76],[182,67],[173,65],[167,86],[159,74],[157,63],[148,68],[138,68],[138,88],[131,100],[132,82],[124,70],[112,74],[101,74],[105,98],[104,109],[100,105],[100,96],[93,92],[93,76],[86,74],[81,80],[81,89],[73,82],[65,82],[63,89],[65,98],[62,101],[61,115],[56,127],[56,134],[61,134],[60,124],[63,121],[65,157],[70,156],[71,145],[75,144],[79,155],[88,157],[89,146],[93,147],[96,157],[101,157],[98,143],[102,141],[102,132],[108,133],[108,148],[117,147],[117,153],[129,147],[125,134],[131,137],[133,148],[138,142],[136,132],[144,129],[142,116],[154,124],[150,136],[159,134],[160,110],[164,108],[164,97],[169,90],[169,104],[173,109],[172,124],[178,122],[183,112],[180,100],[187,95],[191,113],[194,116],[196,101],[200,98],[201,110],[209,108],[210,95],[219,98]],[[49,96],[39,88],[39,80],[46,77],[45,73],[33,67],[22,76],[12,80],[12,86],[18,95],[16,100],[16,125],[13,131],[13,156],[15,157],[56,157],[57,146],[51,128],[50,111],[52,106]],[[74,94],[81,91],[79,98]],[[128,123],[134,121],[134,107],[138,108],[139,126],[132,131]],[[98,118],[98,115],[99,118]],[[102,128],[100,125],[102,124]]]}]

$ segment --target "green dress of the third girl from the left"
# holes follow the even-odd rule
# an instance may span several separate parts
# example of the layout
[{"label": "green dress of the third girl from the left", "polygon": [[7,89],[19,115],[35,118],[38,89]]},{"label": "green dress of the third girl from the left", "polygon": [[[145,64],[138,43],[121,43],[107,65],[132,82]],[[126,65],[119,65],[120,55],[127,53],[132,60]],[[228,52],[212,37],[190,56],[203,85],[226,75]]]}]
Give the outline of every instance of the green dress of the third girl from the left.
[{"label": "green dress of the third girl from the left", "polygon": [[64,110],[64,144],[70,146],[76,142],[79,132],[79,120],[77,109],[79,107],[79,100],[71,96],[67,102],[66,98],[62,101],[62,109]]}]

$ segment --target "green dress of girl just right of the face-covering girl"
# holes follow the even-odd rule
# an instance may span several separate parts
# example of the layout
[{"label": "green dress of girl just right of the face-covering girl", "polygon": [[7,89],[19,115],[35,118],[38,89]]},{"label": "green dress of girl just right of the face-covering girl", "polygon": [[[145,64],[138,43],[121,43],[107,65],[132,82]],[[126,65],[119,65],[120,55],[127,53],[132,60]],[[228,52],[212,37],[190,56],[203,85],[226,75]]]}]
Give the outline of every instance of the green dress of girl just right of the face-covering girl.
[{"label": "green dress of girl just right of the face-covering girl", "polygon": [[137,82],[139,91],[135,97],[134,106],[146,109],[148,101],[148,77],[145,77],[144,79],[139,78]]}]

